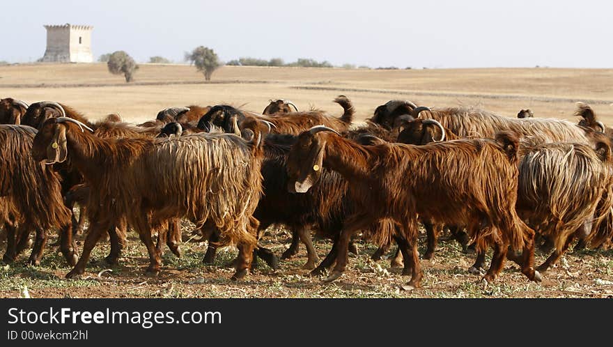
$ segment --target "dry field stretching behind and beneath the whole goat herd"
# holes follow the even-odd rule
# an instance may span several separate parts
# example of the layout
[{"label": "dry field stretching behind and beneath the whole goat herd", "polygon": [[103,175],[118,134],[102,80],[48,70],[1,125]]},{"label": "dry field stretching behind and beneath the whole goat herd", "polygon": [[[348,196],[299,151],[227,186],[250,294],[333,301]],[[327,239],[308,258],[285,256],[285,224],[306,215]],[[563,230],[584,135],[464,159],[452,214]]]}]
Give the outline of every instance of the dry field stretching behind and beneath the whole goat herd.
[{"label": "dry field stretching behind and beneath the whole goat herd", "polygon": [[[10,65],[0,66],[0,98],[26,102],[54,100],[82,111],[91,119],[119,113],[127,121],[155,118],[169,106],[215,105],[222,102],[245,105],[261,111],[271,98],[287,98],[302,108],[317,107],[334,114],[341,109],[332,102],[347,95],[355,104],[359,119],[390,99],[408,99],[429,106],[478,106],[506,116],[531,108],[536,116],[573,120],[574,102],[588,102],[607,125],[613,125],[613,70],[577,69],[461,69],[461,70],[343,70],[320,68],[220,68],[210,83],[187,65],[141,65],[136,82],[125,84],[123,77],[110,75],[104,64]],[[189,237],[191,227],[183,227]],[[280,255],[288,247],[287,231],[269,230],[264,244]],[[79,240],[82,240],[79,238]],[[54,242],[54,237],[49,245]],[[421,242],[420,252],[424,252]],[[19,296],[27,286],[33,298],[606,298],[613,295],[613,252],[571,249],[557,268],[543,274],[543,283],[534,284],[507,263],[495,284],[483,286],[480,275],[467,272],[474,254],[465,254],[453,240],[441,240],[437,256],[423,261],[424,288],[401,290],[408,281],[401,271],[389,268],[389,261],[373,263],[373,245],[359,243],[357,256],[350,257],[341,279],[323,284],[301,268],[306,261],[304,247],[295,259],[281,261],[281,269],[260,267],[242,282],[229,280],[232,270],[224,265],[236,252],[219,252],[215,265],[202,265],[205,243],[182,245],[177,259],[166,252],[158,277],[146,277],[145,247],[138,237],[130,240],[118,268],[105,270],[102,258],[108,242],[102,242],[92,256],[86,274],[65,280],[70,270],[58,250],[47,247],[38,267],[16,263],[0,265],[0,297]],[[4,245],[0,244],[3,250]],[[82,241],[79,241],[82,247]],[[316,240],[320,257],[330,244]],[[538,253],[537,261],[545,254]],[[100,273],[102,272],[102,273]]]}]

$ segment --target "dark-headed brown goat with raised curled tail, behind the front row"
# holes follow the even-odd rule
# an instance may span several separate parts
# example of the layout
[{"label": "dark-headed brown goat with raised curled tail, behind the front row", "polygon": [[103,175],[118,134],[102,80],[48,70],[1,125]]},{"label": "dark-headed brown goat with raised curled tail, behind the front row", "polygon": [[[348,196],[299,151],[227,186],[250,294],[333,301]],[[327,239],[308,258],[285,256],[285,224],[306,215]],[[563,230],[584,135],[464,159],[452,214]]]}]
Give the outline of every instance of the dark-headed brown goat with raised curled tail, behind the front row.
[{"label": "dark-headed brown goat with raised curled tail, behind the front row", "polygon": [[[239,109],[228,105],[217,105],[200,118],[198,128],[208,130],[210,125],[223,128],[225,132],[240,132],[242,123],[248,118],[256,118],[267,121],[273,125],[272,132],[277,134],[300,134],[313,125],[323,124],[337,131],[348,130],[355,111],[351,102],[343,95],[334,100],[343,107],[343,115],[340,118],[328,116],[323,111],[303,111],[292,114],[278,114],[276,116],[263,116],[245,114]],[[261,124],[261,131],[266,131],[266,125]]]}]

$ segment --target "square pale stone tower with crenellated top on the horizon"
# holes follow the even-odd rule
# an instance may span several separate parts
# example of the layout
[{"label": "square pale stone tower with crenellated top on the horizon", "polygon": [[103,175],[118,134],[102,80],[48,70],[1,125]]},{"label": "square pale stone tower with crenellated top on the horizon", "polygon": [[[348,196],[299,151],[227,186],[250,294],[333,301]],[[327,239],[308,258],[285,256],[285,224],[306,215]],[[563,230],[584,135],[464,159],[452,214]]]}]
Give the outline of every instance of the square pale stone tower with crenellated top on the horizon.
[{"label": "square pale stone tower with crenellated top on the horizon", "polygon": [[45,25],[47,49],[43,62],[91,63],[91,29],[87,25]]}]

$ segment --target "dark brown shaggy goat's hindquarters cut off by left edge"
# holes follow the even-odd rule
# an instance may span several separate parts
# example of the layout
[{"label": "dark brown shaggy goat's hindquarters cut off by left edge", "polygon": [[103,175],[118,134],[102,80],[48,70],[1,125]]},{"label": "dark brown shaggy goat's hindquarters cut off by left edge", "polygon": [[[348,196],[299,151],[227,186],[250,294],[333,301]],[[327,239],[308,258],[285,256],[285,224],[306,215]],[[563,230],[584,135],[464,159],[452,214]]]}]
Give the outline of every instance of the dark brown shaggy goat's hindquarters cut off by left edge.
[{"label": "dark brown shaggy goat's hindquarters cut off by left edge", "polygon": [[[62,201],[60,176],[30,154],[36,129],[24,125],[0,125],[0,196],[5,213],[20,223],[19,244],[27,240],[25,231],[36,229],[36,241],[29,263],[40,264],[48,229],[60,230],[61,252],[70,265],[77,262],[77,246],[72,241],[70,211]],[[4,218],[5,225],[7,218]],[[7,229],[5,261],[14,261],[23,249],[17,243],[15,228]]]}]

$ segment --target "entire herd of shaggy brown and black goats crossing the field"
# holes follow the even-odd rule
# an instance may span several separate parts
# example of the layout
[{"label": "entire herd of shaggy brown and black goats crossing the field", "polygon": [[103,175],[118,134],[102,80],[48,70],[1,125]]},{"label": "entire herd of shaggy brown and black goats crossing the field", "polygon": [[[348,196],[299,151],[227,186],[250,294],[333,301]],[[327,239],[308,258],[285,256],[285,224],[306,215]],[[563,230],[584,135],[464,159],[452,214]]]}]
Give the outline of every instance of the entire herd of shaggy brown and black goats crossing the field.
[{"label": "entire herd of shaggy brown and black goats crossing the field", "polygon": [[[511,118],[391,100],[353,123],[350,100],[334,101],[340,117],[271,100],[263,114],[192,105],[136,125],[116,114],[94,123],[58,102],[1,99],[3,261],[31,246],[29,263],[40,264],[47,231],[57,230],[74,266],[66,277],[77,277],[105,236],[105,261],[117,264],[131,227],[147,247],[147,272],[157,274],[166,247],[180,256],[182,218],[208,240],[205,263],[218,247],[238,247],[233,279],[248,274],[254,257],[278,268],[277,256],[258,245],[272,224],[292,232],[281,257],[304,243],[305,268],[326,282],[341,277],[360,236],[380,246],[375,260],[395,242],[392,261],[418,287],[419,223],[427,233],[424,259],[444,230],[463,247],[474,245],[472,271],[485,268],[492,247],[487,282],[506,258],[540,282],[573,240],[575,247],[611,245],[613,128],[589,105],[577,103],[575,124],[529,110]],[[77,256],[73,237],[85,217]],[[318,265],[311,231],[333,242]],[[538,267],[535,245],[551,252]]]}]

